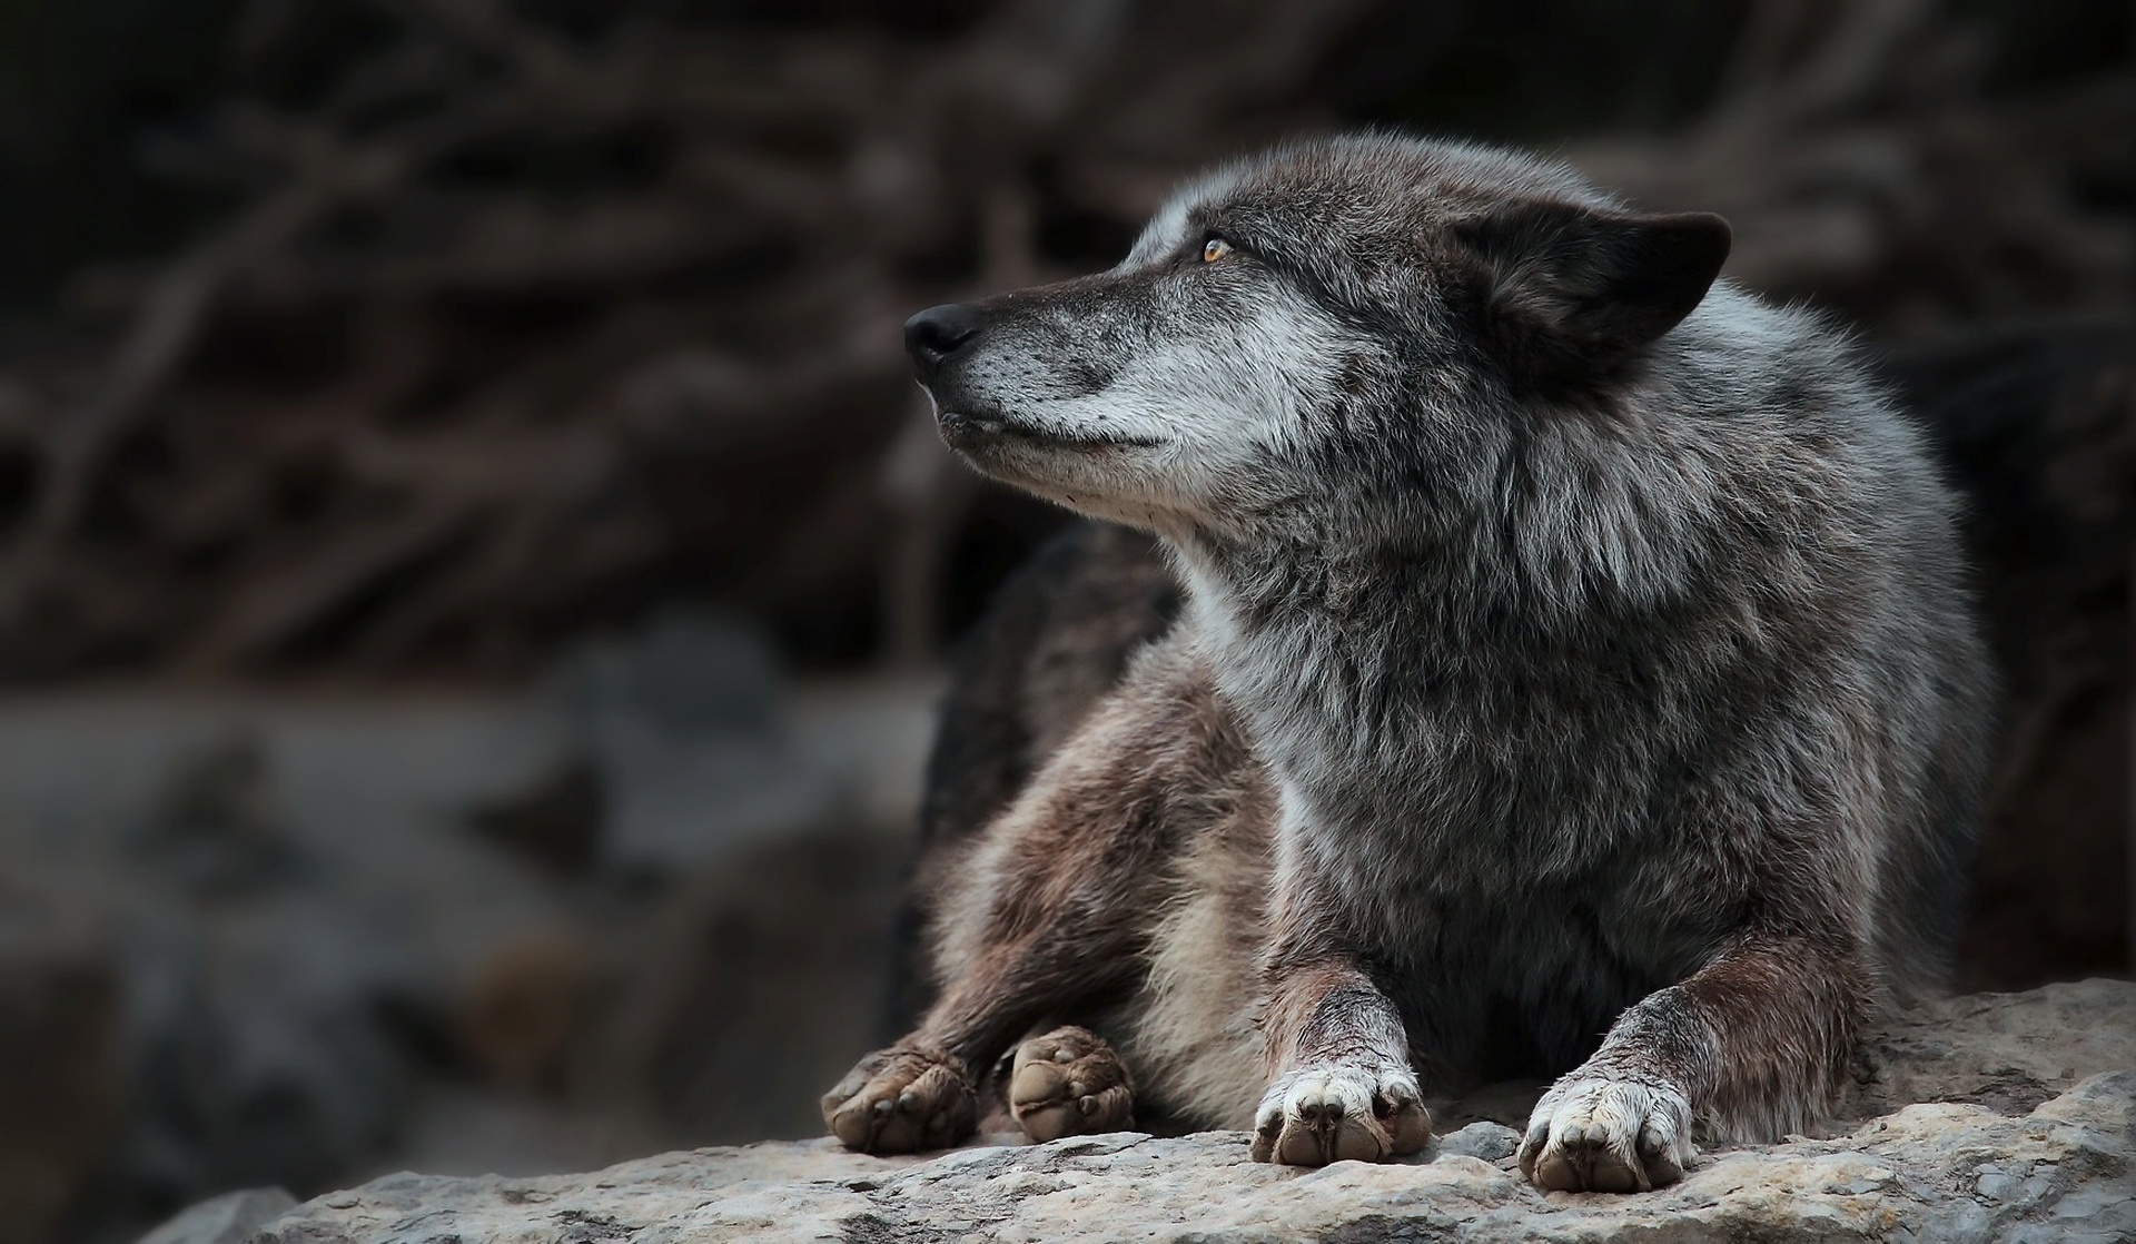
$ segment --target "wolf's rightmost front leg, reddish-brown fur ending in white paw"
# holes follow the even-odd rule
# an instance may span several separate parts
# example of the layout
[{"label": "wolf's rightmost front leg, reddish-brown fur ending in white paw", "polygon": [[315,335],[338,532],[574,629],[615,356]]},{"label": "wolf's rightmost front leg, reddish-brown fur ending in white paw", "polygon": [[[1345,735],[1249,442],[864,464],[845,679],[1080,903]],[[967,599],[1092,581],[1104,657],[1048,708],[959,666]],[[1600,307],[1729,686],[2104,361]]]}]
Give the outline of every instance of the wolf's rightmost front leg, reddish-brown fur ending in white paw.
[{"label": "wolf's rightmost front leg, reddish-brown fur ending in white paw", "polygon": [[1638,1002],[1529,1116],[1521,1171],[1542,1188],[1634,1193],[1692,1161],[1692,1120],[1777,1139],[1831,1103],[1867,1011],[1841,938],[1749,934]]}]

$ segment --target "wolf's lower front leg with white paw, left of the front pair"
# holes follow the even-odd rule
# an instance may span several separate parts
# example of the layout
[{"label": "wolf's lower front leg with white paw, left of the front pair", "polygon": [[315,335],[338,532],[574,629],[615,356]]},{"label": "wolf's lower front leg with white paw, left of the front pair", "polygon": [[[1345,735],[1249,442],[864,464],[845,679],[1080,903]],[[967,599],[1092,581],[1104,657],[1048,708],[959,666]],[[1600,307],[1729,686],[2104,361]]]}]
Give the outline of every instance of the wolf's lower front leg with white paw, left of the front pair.
[{"label": "wolf's lower front leg with white paw, left of the front pair", "polygon": [[1431,1139],[1401,1015],[1356,960],[1277,958],[1262,1035],[1275,1075],[1254,1111],[1254,1161],[1378,1163]]}]

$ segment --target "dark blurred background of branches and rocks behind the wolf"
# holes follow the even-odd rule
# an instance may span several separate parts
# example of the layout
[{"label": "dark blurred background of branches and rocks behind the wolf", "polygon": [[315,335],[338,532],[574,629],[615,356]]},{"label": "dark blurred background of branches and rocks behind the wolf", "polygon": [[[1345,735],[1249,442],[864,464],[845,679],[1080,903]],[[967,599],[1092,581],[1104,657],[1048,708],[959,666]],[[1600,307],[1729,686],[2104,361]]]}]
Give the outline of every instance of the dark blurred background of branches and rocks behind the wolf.
[{"label": "dark blurred background of branches and rocks behind the wolf", "polygon": [[2125,975],[2125,0],[4,0],[0,1242],[814,1135],[1062,522],[899,321],[1367,124],[1878,351],[2010,688],[1961,983]]}]

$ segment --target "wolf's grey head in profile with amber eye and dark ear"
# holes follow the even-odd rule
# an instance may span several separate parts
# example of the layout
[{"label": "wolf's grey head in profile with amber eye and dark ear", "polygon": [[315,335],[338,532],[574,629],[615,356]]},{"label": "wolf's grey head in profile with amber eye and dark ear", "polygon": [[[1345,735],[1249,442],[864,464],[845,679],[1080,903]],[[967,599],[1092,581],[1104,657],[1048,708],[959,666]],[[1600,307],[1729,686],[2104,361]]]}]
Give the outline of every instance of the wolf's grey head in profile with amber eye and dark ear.
[{"label": "wolf's grey head in profile with amber eye and dark ear", "polygon": [[[1173,539],[1401,539],[1525,423],[1606,415],[1728,254],[1489,147],[1275,150],[1166,203],[1119,267],[906,323],[978,470]],[[1448,470],[1459,464],[1459,470]]]}]

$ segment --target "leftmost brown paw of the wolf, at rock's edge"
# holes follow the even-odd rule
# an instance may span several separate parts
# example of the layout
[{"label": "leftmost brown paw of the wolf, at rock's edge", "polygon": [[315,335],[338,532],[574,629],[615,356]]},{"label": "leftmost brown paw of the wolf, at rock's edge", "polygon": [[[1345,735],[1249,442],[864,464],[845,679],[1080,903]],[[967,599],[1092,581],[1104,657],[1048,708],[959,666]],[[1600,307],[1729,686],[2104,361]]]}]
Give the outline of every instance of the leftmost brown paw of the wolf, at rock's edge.
[{"label": "leftmost brown paw of the wolf, at rock's edge", "polygon": [[978,1090],[940,1049],[878,1049],[822,1094],[822,1122],[850,1150],[944,1150],[978,1129]]}]

